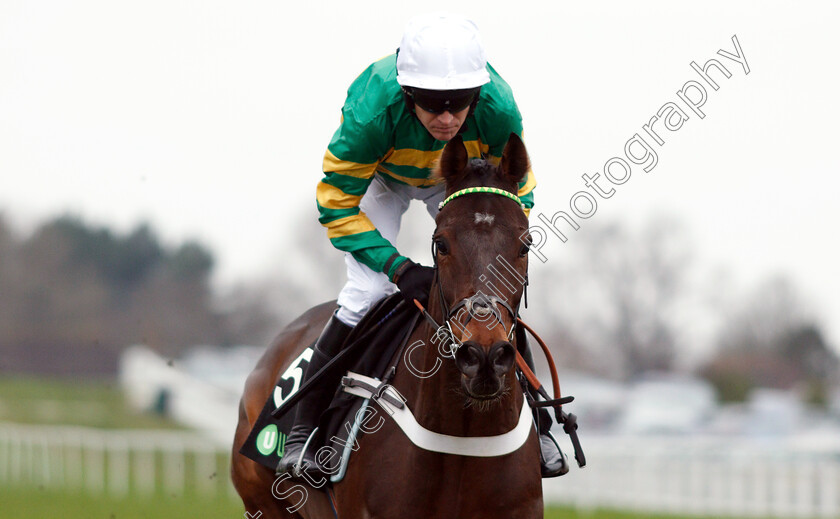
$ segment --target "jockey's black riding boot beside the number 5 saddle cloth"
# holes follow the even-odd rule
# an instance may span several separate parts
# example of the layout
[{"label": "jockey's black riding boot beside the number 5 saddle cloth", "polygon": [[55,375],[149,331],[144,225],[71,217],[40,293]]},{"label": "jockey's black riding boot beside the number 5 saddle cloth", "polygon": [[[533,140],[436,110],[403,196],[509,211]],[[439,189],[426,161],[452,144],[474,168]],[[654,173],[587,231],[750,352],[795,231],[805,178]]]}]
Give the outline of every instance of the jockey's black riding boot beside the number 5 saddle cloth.
[{"label": "jockey's black riding boot beside the number 5 saddle cloth", "polygon": [[[335,315],[330,317],[321,336],[315,343],[312,359],[309,361],[309,366],[306,368],[306,373],[303,375],[301,385],[303,385],[313,374],[320,371],[327,362],[330,361],[340,350],[344,344],[344,339],[350,334],[352,326],[348,326],[341,322]],[[312,431],[318,424],[318,418],[324,411],[324,408],[329,405],[330,400],[335,394],[335,377],[326,377],[317,385],[309,390],[309,393],[304,395],[298,402],[295,412],[295,425],[289,431],[289,437],[286,439],[285,451],[280,462],[277,464],[276,473],[283,474],[291,472],[293,476],[299,476],[306,467],[316,467],[314,458],[314,451],[307,449],[303,459],[301,459],[301,451],[306,444],[306,440],[312,434]]]}]

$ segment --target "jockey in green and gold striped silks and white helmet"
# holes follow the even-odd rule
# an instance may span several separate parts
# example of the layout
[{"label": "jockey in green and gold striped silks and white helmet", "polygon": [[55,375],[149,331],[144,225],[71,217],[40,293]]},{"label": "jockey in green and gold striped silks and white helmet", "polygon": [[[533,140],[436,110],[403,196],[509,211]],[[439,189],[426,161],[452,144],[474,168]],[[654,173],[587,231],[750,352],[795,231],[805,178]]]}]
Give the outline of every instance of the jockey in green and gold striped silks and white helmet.
[{"label": "jockey in green and gold striped silks and white helmet", "polygon": [[[413,19],[397,53],[370,65],[350,85],[317,189],[319,221],[330,242],[345,252],[347,284],[314,346],[304,382],[338,353],[350,330],[383,297],[399,289],[407,301],[427,303],[434,269],[414,263],[393,244],[411,200],[424,202],[432,217],[437,214],[445,185],[431,171],[446,142],[461,135],[470,158],[498,163],[512,132],[521,137],[522,118],[510,87],[487,63],[475,23],[461,16]],[[528,171],[518,193],[526,214],[535,185]],[[301,400],[278,474],[294,473],[334,393],[333,384],[319,384]],[[540,445],[543,475],[558,475],[564,466],[559,448],[548,434],[541,435]],[[316,466],[307,458],[314,457],[311,450],[304,466]]]}]

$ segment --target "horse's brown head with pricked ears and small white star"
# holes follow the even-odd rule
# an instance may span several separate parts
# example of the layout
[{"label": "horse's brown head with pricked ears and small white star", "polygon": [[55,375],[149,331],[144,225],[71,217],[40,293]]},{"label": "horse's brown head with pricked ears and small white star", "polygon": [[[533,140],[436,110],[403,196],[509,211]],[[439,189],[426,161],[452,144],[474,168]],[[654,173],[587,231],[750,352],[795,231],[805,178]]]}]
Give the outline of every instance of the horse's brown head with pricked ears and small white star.
[{"label": "horse's brown head with pricked ears and small white star", "polygon": [[[528,171],[522,140],[511,134],[498,166],[469,160],[460,137],[439,165],[447,198],[435,222],[438,299],[452,330],[461,386],[474,403],[491,403],[513,381],[511,344],[528,269],[528,219],[518,183]],[[454,195],[454,196],[453,196]]]}]

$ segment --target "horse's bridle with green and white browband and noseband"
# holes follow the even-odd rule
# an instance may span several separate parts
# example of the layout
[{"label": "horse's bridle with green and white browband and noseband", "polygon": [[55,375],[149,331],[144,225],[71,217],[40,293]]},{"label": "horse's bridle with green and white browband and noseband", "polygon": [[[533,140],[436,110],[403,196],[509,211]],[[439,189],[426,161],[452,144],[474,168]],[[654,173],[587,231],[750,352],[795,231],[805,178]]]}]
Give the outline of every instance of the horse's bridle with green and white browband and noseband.
[{"label": "horse's bridle with green and white browband and noseband", "polygon": [[[470,187],[466,189],[461,189],[449,195],[445,200],[443,200],[438,205],[438,211],[442,210],[446,204],[451,202],[452,200],[469,194],[477,194],[477,193],[490,193],[494,195],[504,196],[514,202],[516,202],[521,208],[524,208],[524,204],[522,204],[522,200],[519,199],[518,196],[514,195],[509,191],[505,191],[504,189],[499,189],[495,187],[487,187],[487,186],[480,186],[480,187]],[[437,229],[435,229],[435,234],[437,233]],[[438,287],[438,296],[440,300],[441,306],[441,315],[444,316],[443,326],[438,325],[437,322],[429,315],[428,312],[423,309],[423,314],[428,321],[430,321],[435,329],[437,330],[436,334],[438,337],[444,338],[448,341],[450,354],[453,356],[455,352],[463,345],[461,340],[458,338],[458,334],[452,329],[452,322],[455,321],[457,326],[460,327],[461,331],[466,331],[466,327],[469,322],[476,318],[476,320],[484,322],[489,319],[494,319],[495,322],[498,322],[502,326],[502,329],[505,330],[505,335],[508,341],[512,341],[513,337],[516,333],[516,323],[517,318],[519,317],[519,304],[517,304],[516,309],[512,308],[510,304],[501,299],[496,297],[495,295],[488,296],[487,294],[479,291],[472,296],[465,297],[460,301],[456,302],[454,305],[449,306],[446,302],[446,296],[443,293],[443,283],[440,279],[440,269],[438,268],[438,249],[437,249],[437,242],[433,239],[432,240],[432,258],[434,262],[434,269],[435,269],[435,284]],[[527,274],[525,276],[525,282],[522,284],[523,287],[527,287]],[[507,313],[511,317],[511,325],[510,329],[506,329],[504,319],[502,318],[502,311],[499,308],[504,308]],[[466,321],[461,322],[459,317],[460,315],[466,311],[467,317]],[[495,324],[493,324],[495,326]],[[492,328],[492,327],[491,327]]]}]

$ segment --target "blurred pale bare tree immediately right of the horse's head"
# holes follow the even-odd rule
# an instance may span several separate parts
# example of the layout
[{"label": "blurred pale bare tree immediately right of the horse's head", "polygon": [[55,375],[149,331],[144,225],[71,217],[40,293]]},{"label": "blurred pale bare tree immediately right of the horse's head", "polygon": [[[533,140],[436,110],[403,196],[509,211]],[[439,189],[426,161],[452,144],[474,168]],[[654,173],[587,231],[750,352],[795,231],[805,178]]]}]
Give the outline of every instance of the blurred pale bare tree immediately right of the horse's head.
[{"label": "blurred pale bare tree immediately right of the horse's head", "polygon": [[[573,253],[564,263],[546,264],[534,277],[530,311],[552,312],[545,322],[562,323],[567,342],[576,337],[572,342],[590,351],[590,359],[579,362],[597,363],[601,373],[633,378],[672,369],[678,347],[675,307],[690,267],[685,230],[673,219],[659,218],[639,231],[618,223],[593,225],[575,239],[567,244]],[[553,280],[552,290],[539,283],[546,278]]]}]

